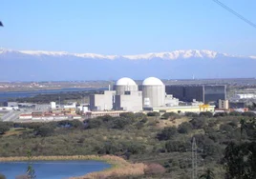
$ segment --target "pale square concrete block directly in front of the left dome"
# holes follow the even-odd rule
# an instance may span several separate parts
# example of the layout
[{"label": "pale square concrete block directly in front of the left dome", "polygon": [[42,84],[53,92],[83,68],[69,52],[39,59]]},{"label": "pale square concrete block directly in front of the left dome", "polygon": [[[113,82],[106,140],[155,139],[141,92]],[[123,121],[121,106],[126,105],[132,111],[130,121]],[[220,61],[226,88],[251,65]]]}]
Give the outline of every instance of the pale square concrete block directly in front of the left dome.
[{"label": "pale square concrete block directly in front of the left dome", "polygon": [[142,92],[131,90],[116,95],[116,110],[140,111],[142,110]]}]

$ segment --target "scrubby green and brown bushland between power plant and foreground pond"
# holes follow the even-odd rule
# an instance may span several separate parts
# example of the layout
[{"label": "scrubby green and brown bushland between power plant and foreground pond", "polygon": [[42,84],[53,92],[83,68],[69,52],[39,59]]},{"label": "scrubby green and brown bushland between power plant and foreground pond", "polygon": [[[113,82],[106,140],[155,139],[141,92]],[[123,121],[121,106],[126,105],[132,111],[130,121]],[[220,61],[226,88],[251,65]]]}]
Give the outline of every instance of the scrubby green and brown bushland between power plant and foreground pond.
[{"label": "scrubby green and brown bushland between power plant and foreground pond", "polygon": [[185,179],[191,178],[191,141],[195,137],[199,176],[256,178],[255,117],[252,112],[214,116],[210,112],[185,116],[151,112],[123,113],[120,117],[103,116],[84,122],[2,122],[0,155],[26,156],[29,149],[34,157],[111,154],[130,165],[139,165],[130,166],[139,169],[137,174],[125,174],[119,168],[114,174],[88,176],[115,178],[122,173],[127,177]]}]

